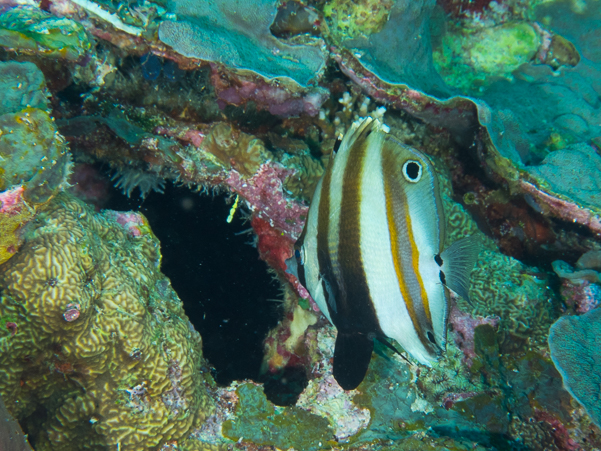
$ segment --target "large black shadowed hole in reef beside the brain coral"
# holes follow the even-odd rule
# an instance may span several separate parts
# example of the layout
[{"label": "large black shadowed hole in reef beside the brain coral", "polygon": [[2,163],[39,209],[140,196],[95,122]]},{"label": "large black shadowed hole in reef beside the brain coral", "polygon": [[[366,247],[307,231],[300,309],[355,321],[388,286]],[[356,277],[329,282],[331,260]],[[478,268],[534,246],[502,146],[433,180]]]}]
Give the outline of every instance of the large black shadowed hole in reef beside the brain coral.
[{"label": "large black shadowed hole in reef beside the brain coral", "polygon": [[[200,332],[203,352],[218,384],[259,380],[263,340],[280,320],[279,284],[249,245],[252,233],[238,212],[228,224],[223,196],[200,195],[168,183],[165,193],[128,199],[113,189],[111,210],[143,213],[161,242],[161,271]],[[238,234],[238,235],[237,235]]]}]

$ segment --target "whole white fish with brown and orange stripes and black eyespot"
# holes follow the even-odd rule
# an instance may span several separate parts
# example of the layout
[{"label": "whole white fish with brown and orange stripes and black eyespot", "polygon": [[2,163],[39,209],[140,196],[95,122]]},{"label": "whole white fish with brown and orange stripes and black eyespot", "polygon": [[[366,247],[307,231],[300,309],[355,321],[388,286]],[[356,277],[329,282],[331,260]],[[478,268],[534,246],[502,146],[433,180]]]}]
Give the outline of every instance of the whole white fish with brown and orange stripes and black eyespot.
[{"label": "whole white fish with brown and orange stripes and black eyespot", "polygon": [[445,218],[428,157],[379,120],[353,124],[317,184],[287,260],[336,327],[334,378],[364,379],[374,339],[431,366],[446,347],[450,288],[468,299],[479,240],[443,249]]}]

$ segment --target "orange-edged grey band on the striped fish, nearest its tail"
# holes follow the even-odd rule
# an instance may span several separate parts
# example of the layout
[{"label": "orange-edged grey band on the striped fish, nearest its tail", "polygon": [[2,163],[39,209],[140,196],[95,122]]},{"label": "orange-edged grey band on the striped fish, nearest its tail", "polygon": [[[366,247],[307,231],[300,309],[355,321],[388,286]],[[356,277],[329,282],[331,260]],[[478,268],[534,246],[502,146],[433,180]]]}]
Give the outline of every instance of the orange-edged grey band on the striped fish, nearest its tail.
[{"label": "orange-edged grey band on the striped fish, nearest its tail", "polygon": [[415,245],[409,204],[402,186],[404,179],[398,177],[398,164],[394,149],[390,145],[384,146],[382,171],[394,269],[413,327],[428,349],[432,340],[428,340],[426,334],[433,330],[432,318],[428,295],[419,271],[419,249]]}]

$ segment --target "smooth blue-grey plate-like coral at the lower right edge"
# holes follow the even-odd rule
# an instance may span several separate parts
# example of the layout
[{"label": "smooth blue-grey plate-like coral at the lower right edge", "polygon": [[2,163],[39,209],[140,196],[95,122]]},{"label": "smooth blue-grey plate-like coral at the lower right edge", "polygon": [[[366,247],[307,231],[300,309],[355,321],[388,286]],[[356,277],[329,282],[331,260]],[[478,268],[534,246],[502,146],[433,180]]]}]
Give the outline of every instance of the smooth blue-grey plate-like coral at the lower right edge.
[{"label": "smooth blue-grey plate-like coral at the lower right edge", "polygon": [[565,316],[549,332],[551,359],[568,392],[601,427],[601,309]]}]

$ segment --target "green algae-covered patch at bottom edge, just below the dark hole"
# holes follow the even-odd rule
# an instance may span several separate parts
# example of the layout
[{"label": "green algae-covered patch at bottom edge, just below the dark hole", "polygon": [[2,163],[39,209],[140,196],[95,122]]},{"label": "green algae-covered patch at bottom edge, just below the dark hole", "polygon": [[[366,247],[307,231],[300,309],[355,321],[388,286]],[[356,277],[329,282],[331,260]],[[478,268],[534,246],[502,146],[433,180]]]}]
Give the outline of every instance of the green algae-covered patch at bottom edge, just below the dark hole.
[{"label": "green algae-covered patch at bottom edge, just below the dark hole", "polygon": [[325,418],[297,407],[278,408],[260,386],[251,383],[241,385],[236,393],[240,401],[234,419],[223,424],[224,437],[281,449],[329,448],[334,433]]}]

